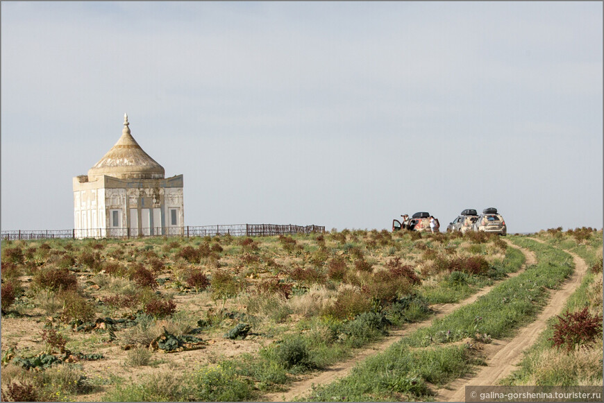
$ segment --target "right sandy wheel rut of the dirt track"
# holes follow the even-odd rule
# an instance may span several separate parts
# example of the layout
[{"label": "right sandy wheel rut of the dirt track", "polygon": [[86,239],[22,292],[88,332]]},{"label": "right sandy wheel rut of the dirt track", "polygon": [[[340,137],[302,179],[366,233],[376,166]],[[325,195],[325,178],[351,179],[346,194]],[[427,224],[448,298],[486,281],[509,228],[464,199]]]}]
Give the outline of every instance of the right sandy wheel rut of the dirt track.
[{"label": "right sandy wheel rut of the dirt track", "polygon": [[[534,241],[544,243],[539,239],[531,238]],[[510,375],[512,370],[517,368],[517,364],[522,359],[522,353],[537,341],[541,332],[547,326],[547,320],[555,315],[560,315],[564,309],[564,302],[576,291],[581,284],[581,280],[587,273],[587,264],[578,257],[578,255],[568,250],[564,250],[575,263],[573,274],[562,283],[560,289],[553,290],[548,304],[537,316],[537,319],[519,330],[518,334],[511,340],[494,340],[493,343],[485,345],[485,354],[487,355],[487,366],[480,370],[476,375],[462,377],[448,384],[446,388],[439,389],[435,400],[438,402],[464,402],[466,386],[492,386],[498,379]]]}]

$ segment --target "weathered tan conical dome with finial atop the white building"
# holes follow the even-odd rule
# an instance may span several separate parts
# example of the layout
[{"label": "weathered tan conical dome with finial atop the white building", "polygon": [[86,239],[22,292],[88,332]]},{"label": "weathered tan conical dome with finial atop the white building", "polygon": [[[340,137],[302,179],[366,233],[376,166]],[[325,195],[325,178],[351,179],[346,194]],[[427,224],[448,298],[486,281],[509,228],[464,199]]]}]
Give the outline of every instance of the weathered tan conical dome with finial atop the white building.
[{"label": "weathered tan conical dome with finial atop the white building", "polygon": [[88,180],[103,175],[119,179],[163,179],[165,170],[138,145],[128,128],[128,115],[124,114],[124,130],[112,148],[88,170]]}]

